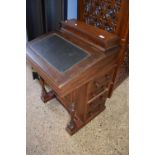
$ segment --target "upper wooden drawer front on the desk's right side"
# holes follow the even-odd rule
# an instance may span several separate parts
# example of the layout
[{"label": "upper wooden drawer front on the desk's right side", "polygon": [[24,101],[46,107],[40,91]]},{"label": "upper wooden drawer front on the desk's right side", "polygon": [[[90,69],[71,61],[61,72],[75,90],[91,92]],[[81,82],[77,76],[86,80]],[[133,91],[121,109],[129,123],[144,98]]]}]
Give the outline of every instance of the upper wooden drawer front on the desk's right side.
[{"label": "upper wooden drawer front on the desk's right side", "polygon": [[106,73],[104,76],[100,76],[95,80],[91,81],[89,84],[88,99],[95,97],[100,92],[107,89],[109,86],[109,83],[112,80],[112,76],[113,76],[113,70]]}]

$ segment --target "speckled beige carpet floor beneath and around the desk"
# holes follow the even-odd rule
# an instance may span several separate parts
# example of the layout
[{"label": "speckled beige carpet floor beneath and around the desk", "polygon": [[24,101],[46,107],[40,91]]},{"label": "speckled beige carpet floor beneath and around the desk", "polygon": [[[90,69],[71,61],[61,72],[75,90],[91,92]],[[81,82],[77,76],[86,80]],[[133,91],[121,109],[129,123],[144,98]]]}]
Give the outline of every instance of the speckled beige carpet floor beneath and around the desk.
[{"label": "speckled beige carpet floor beneath and around the desk", "polygon": [[44,104],[41,87],[27,65],[27,155],[128,155],[128,79],[106,102],[106,109],[70,136],[70,117],[57,100]]}]

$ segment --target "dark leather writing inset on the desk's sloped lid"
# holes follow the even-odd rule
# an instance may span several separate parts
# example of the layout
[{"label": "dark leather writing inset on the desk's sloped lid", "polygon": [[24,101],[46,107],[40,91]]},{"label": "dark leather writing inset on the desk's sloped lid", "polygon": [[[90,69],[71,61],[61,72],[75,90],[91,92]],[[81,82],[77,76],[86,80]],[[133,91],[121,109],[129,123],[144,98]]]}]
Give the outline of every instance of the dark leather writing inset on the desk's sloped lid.
[{"label": "dark leather writing inset on the desk's sloped lid", "polygon": [[51,35],[32,43],[31,48],[60,72],[65,72],[89,55],[58,35]]}]

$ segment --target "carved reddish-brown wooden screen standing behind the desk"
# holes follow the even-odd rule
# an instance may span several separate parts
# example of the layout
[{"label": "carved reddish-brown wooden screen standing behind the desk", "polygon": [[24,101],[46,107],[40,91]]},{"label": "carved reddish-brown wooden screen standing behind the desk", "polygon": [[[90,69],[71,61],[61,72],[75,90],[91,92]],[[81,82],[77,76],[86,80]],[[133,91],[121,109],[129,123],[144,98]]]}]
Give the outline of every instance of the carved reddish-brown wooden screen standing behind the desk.
[{"label": "carved reddish-brown wooden screen standing behind the desk", "polygon": [[129,74],[129,0],[79,0],[78,20],[118,35],[120,40],[119,62],[111,85],[117,87]]}]

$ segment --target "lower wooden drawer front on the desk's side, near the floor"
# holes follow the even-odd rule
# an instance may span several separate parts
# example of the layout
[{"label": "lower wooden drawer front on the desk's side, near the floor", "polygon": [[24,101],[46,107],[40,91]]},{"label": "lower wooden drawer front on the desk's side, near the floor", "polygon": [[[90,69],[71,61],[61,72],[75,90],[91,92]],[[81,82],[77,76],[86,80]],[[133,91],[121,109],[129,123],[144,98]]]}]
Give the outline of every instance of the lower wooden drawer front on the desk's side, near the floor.
[{"label": "lower wooden drawer front on the desk's side, near the floor", "polygon": [[87,117],[95,115],[97,112],[105,109],[105,101],[108,96],[108,91],[101,92],[97,98],[88,103],[87,105]]}]

